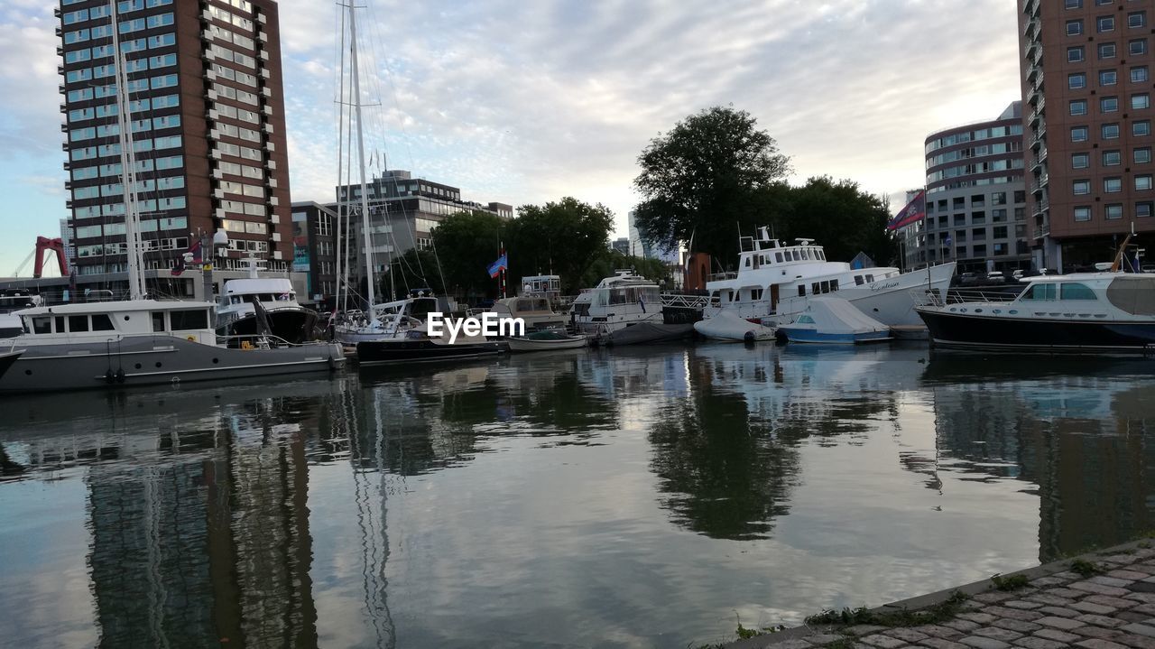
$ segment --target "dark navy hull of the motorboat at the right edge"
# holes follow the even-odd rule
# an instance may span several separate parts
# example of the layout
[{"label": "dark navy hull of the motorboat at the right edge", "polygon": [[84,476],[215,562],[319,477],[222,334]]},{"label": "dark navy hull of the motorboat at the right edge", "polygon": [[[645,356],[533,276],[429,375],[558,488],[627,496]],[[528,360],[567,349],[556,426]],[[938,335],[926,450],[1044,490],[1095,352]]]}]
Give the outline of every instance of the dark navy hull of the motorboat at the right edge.
[{"label": "dark navy hull of the motorboat at the right edge", "polygon": [[1155,353],[1155,321],[1013,319],[919,308],[931,344],[988,351]]}]

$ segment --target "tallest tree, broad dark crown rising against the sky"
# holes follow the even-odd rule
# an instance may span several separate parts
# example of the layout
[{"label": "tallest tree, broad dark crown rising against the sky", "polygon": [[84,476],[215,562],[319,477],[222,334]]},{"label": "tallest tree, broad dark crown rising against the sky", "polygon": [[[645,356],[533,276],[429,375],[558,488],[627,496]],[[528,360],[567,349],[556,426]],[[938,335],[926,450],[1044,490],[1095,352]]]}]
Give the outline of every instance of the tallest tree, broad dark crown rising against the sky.
[{"label": "tallest tree, broad dark crown rising against the sky", "polygon": [[658,135],[638,157],[643,196],[636,223],[653,243],[694,249],[723,262],[738,256],[739,223],[758,214],[763,189],[785,178],[790,158],[746,111],[714,106]]}]

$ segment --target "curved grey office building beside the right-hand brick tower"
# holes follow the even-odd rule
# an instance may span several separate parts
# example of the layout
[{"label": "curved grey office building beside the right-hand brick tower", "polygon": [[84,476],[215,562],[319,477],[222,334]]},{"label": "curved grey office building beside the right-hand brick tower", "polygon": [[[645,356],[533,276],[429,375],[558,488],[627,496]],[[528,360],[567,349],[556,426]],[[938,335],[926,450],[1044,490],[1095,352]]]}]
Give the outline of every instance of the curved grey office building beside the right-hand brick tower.
[{"label": "curved grey office building beside the right-hand brick tower", "polygon": [[926,137],[926,222],[907,236],[908,268],[956,261],[959,273],[1030,268],[1021,102],[991,121]]}]

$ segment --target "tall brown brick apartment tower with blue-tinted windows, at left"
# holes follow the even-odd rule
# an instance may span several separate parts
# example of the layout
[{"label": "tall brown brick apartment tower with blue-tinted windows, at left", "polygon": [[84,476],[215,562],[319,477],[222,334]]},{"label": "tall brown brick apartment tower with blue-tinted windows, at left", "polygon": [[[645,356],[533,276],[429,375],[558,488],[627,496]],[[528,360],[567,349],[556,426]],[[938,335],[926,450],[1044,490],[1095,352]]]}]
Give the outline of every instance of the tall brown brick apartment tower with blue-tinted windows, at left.
[{"label": "tall brown brick apartment tower with blue-tinted windows, at left", "polygon": [[[116,14],[116,25],[113,22]],[[286,270],[292,221],[273,0],[60,0],[57,53],[77,273],[126,270],[113,29],[128,79],[146,268],[223,230]]]}]

